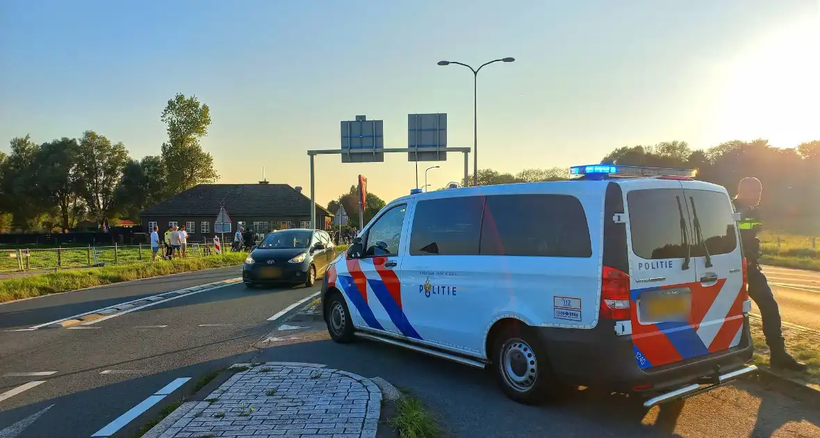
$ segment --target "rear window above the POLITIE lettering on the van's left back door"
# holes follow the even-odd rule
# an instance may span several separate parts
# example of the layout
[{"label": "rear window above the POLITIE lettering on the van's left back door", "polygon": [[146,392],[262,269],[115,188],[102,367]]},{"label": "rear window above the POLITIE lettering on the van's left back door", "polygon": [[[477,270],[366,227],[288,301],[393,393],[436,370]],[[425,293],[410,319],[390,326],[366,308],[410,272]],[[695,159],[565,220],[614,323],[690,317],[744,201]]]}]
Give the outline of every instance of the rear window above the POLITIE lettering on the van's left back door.
[{"label": "rear window above the POLITIE lettering on the van's left back door", "polygon": [[[678,210],[678,199],[681,210]],[[632,252],[640,258],[650,260],[686,258],[681,212],[687,227],[686,235],[691,238],[690,209],[686,208],[687,204],[682,189],[631,190],[626,194]]]}]

